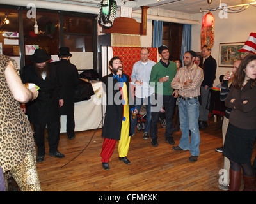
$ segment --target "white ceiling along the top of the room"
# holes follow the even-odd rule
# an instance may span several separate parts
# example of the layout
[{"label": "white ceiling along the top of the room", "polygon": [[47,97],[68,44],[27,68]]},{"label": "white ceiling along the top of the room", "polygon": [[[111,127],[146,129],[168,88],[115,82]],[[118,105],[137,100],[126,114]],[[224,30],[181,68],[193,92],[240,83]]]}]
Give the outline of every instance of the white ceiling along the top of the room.
[{"label": "white ceiling along the top of the room", "polygon": [[[42,0],[52,1],[67,4],[79,4],[84,6],[99,6],[100,0]],[[210,9],[218,8],[220,3],[225,3],[227,6],[236,6],[240,4],[252,3],[255,0],[212,0]],[[150,6],[150,8],[159,8],[169,11],[178,11],[182,13],[195,14],[208,10],[209,4],[207,0],[116,0],[118,7],[129,6],[132,10],[140,10],[140,6]],[[236,8],[234,8],[236,9]]]}]

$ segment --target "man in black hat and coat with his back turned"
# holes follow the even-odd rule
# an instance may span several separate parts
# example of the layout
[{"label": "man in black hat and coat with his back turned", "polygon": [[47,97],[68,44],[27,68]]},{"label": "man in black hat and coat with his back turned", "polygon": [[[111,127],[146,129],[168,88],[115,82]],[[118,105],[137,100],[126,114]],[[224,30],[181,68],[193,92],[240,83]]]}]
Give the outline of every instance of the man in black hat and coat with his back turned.
[{"label": "man in black hat and coat with his back turned", "polygon": [[60,108],[60,115],[67,115],[66,131],[70,140],[76,136],[74,131],[75,87],[81,82],[76,66],[70,63],[71,56],[68,47],[60,47],[58,54],[60,61],[53,63],[57,68],[59,83],[63,92],[64,103]]}]

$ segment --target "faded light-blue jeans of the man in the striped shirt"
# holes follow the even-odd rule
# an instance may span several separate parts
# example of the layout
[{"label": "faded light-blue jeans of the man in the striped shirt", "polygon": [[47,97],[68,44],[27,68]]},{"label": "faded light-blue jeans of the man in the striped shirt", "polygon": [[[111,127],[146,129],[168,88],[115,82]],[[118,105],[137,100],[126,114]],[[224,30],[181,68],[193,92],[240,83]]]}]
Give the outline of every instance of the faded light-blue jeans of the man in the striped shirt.
[{"label": "faded light-blue jeans of the man in the striped shirt", "polygon": [[[198,99],[183,100],[178,98],[177,101],[179,106],[180,131],[182,133],[179,147],[183,150],[190,150],[192,156],[199,156]],[[191,131],[190,145],[189,130]]]}]

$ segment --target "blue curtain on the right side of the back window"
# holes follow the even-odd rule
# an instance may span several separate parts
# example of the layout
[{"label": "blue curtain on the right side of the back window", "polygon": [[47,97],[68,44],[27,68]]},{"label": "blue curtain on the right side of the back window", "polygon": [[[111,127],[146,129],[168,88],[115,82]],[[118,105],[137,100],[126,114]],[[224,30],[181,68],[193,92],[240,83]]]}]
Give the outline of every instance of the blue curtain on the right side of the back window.
[{"label": "blue curtain on the right side of the back window", "polygon": [[185,52],[191,50],[191,28],[192,25],[183,25],[180,59],[183,59]]}]

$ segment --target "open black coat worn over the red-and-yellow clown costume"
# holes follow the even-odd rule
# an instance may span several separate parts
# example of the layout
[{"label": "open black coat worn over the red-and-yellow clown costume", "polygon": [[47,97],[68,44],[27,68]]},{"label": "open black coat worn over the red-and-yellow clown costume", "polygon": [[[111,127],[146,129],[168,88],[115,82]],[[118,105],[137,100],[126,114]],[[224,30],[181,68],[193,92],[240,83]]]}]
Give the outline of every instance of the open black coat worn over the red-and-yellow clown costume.
[{"label": "open black coat worn over the red-and-yellow clown costume", "polygon": [[[127,86],[127,93],[129,99],[131,99],[131,89],[129,87],[129,76],[125,75],[127,78],[125,84]],[[104,91],[107,93],[107,107],[106,115],[104,120],[104,126],[102,128],[102,137],[109,138],[113,140],[120,140],[121,128],[122,128],[122,118],[123,118],[123,105],[122,103],[115,103],[115,96],[118,97],[118,101],[122,101],[121,92],[119,89],[114,89],[118,80],[113,79],[113,74],[102,77],[102,82],[104,83]],[[113,82],[113,83],[111,83]],[[129,90],[130,89],[130,90]],[[113,102],[113,103],[112,103]],[[133,101],[132,105],[129,104],[129,110],[134,108]],[[130,131],[129,136],[131,136],[131,114],[130,115]]]}]

